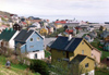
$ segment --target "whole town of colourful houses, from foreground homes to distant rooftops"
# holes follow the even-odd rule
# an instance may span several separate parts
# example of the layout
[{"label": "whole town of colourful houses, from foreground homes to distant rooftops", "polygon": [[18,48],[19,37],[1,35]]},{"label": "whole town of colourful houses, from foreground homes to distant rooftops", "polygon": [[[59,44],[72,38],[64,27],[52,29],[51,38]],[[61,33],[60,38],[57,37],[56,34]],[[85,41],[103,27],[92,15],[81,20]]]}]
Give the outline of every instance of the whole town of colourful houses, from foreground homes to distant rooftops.
[{"label": "whole town of colourful houses, from foreground homes to distant rooftops", "polygon": [[[55,60],[65,61],[68,65],[78,62],[89,75],[94,75],[95,66],[100,63],[101,52],[89,42],[98,36],[96,29],[100,26],[100,37],[105,39],[100,43],[105,46],[105,50],[109,50],[109,32],[106,30],[105,24],[78,22],[75,18],[50,22],[34,16],[20,17],[10,14],[10,18],[0,16],[0,47],[9,46],[12,50],[20,48],[22,53],[27,52],[29,59],[45,59],[45,50],[48,50],[51,53],[51,63]],[[64,32],[58,37],[45,37],[60,28]],[[83,38],[76,37],[81,32],[88,34]]]}]

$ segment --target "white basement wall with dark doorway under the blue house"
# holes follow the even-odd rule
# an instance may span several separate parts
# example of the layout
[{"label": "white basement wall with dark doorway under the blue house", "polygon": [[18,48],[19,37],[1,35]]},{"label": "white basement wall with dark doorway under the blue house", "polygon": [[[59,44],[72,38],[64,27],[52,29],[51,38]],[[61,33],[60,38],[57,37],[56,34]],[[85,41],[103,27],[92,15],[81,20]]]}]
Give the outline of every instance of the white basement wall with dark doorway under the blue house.
[{"label": "white basement wall with dark doorway under the blue house", "polygon": [[36,52],[28,52],[27,57],[29,59],[35,59],[36,53],[37,53],[37,59],[45,59],[45,51],[44,50],[36,51]]}]

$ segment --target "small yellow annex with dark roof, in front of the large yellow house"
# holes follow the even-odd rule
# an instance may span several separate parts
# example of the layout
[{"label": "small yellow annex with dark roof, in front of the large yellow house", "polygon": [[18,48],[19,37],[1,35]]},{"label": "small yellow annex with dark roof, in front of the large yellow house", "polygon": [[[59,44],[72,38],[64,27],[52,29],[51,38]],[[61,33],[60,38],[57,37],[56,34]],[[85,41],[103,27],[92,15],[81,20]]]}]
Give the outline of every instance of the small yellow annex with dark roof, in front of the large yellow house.
[{"label": "small yellow annex with dark roof, in front of the large yellow house", "polygon": [[82,74],[88,73],[88,75],[95,75],[94,74],[94,68],[95,68],[94,59],[87,55],[77,54],[72,61],[70,61],[70,64],[74,64],[74,65],[78,64],[80,71],[82,71],[81,72]]}]

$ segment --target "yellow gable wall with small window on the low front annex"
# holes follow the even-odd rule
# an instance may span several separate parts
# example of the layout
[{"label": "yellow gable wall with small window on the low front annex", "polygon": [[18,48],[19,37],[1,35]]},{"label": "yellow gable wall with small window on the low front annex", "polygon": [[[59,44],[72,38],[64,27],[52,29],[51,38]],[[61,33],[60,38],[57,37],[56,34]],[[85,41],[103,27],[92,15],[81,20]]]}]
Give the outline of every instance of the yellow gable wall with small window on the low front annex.
[{"label": "yellow gable wall with small window on the low front annex", "polygon": [[[85,64],[88,63],[88,67],[85,67]],[[89,58],[85,58],[81,63],[80,63],[81,70],[83,70],[83,74],[90,72],[95,70],[95,61]]]}]

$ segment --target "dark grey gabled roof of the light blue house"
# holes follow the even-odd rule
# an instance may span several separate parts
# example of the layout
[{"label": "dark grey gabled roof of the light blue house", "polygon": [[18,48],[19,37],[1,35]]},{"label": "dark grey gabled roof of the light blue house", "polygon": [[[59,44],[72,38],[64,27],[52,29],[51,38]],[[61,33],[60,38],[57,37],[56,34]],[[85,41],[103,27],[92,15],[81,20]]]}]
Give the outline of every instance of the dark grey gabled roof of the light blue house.
[{"label": "dark grey gabled roof of the light blue house", "polygon": [[[25,42],[27,40],[27,38],[34,33],[35,30],[26,30],[26,29],[22,29],[19,35],[14,38],[14,40],[17,41],[23,41]],[[37,33],[37,32],[36,32]],[[38,33],[37,33],[38,34]],[[38,34],[39,35],[39,34]],[[40,36],[40,35],[39,35]],[[41,37],[41,36],[40,36]],[[41,37],[43,38],[43,37]]]}]

